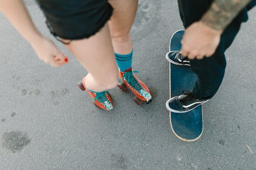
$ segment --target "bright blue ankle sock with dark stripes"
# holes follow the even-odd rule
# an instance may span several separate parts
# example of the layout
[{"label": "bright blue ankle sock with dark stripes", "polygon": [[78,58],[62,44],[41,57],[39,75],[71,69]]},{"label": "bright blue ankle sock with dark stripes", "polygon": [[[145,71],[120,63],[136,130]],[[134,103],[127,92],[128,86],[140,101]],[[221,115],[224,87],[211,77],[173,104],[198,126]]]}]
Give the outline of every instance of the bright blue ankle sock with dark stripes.
[{"label": "bright blue ankle sock with dark stripes", "polygon": [[115,53],[116,63],[120,69],[120,71],[124,71],[129,69],[132,66],[132,59],[133,59],[133,50],[130,54],[117,54]]}]

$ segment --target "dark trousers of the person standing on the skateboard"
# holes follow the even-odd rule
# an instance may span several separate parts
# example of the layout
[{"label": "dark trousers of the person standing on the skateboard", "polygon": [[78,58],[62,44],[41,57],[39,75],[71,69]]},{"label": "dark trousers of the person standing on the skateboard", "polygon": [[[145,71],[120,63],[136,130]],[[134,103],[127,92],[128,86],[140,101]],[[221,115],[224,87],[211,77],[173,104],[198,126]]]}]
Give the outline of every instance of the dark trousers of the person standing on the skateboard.
[{"label": "dark trousers of the person standing on the skateboard", "polygon": [[[211,3],[211,0],[178,0],[180,15],[184,27],[187,28],[191,23],[198,21],[210,7]],[[219,89],[226,67],[224,52],[231,45],[234,37],[237,35],[245,14],[246,13],[241,13],[238,15],[237,18],[235,18],[225,29],[214,55],[202,60],[190,60],[191,69],[198,75],[197,82],[192,91],[197,99],[210,99]]]}]

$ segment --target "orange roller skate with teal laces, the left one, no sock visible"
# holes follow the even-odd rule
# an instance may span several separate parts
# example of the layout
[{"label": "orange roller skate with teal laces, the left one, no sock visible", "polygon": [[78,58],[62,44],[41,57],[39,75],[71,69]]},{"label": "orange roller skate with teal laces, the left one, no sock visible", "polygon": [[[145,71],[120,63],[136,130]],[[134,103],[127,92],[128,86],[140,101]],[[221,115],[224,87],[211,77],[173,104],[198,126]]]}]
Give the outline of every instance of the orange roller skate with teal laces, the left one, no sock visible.
[{"label": "orange roller skate with teal laces, the left one, no sock visible", "polygon": [[113,102],[111,99],[111,95],[109,91],[102,91],[102,92],[93,92],[91,90],[88,90],[85,85],[86,77],[82,79],[82,81],[77,83],[77,86],[82,90],[86,90],[93,99],[93,104],[101,109],[104,110],[112,110],[113,109]]}]

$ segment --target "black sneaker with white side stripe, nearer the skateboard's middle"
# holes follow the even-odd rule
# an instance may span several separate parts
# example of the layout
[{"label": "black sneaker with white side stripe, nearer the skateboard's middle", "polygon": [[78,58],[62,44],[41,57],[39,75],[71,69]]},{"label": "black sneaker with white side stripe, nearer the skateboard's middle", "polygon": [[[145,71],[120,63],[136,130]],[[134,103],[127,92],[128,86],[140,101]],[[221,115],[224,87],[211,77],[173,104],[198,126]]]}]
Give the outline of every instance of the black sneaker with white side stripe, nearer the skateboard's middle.
[{"label": "black sneaker with white side stripe, nearer the skateboard's middle", "polygon": [[207,101],[208,100],[196,99],[190,91],[184,90],[182,91],[182,95],[170,98],[166,102],[165,106],[171,112],[185,113],[195,109]]}]

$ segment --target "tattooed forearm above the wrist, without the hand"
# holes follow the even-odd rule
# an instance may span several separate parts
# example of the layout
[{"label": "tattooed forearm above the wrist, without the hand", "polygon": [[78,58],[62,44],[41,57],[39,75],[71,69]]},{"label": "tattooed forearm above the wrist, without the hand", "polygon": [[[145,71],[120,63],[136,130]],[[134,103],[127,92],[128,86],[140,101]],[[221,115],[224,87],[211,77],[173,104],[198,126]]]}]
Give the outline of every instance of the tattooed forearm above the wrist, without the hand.
[{"label": "tattooed forearm above the wrist, without the hand", "polygon": [[201,21],[215,30],[224,30],[251,0],[215,0]]}]

